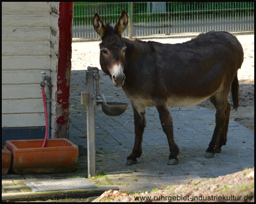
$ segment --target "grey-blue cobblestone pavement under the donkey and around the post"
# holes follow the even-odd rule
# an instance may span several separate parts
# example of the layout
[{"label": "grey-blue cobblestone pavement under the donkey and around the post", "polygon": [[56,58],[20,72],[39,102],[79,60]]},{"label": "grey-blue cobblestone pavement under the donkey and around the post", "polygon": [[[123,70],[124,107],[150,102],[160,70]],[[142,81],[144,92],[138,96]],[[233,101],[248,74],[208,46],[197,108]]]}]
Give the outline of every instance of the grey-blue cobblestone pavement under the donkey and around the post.
[{"label": "grey-blue cobblestone pavement under the donkey and around the post", "polygon": [[[126,112],[117,117],[107,116],[101,106],[96,107],[96,170],[108,175],[105,184],[129,192],[145,191],[254,167],[254,132],[233,120],[229,122],[228,142],[222,147],[221,154],[204,158],[214,130],[215,111],[199,106],[169,108],[174,121],[175,142],[180,148],[177,165],[167,165],[167,138],[156,108],[151,107],[146,110],[144,154],[137,164],[126,166],[126,157],[131,154],[134,144],[133,109],[122,88],[114,87],[109,76],[101,70],[100,76],[100,94],[104,93],[107,101],[129,104]],[[69,140],[86,148],[86,107],[80,105],[80,92],[85,91],[85,70],[73,70],[71,78]],[[86,156],[80,158],[79,169],[86,171]],[[101,185],[97,180],[91,181]]]}]

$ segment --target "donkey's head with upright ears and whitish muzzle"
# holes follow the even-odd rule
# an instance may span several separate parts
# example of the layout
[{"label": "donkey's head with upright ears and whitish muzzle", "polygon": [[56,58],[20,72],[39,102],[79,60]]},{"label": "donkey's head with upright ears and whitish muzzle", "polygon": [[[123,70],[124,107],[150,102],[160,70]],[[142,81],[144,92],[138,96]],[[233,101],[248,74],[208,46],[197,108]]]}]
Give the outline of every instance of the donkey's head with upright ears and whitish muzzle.
[{"label": "donkey's head with upright ears and whitish muzzle", "polygon": [[100,35],[100,64],[104,73],[108,74],[115,87],[121,87],[125,83],[123,74],[125,65],[126,45],[122,40],[122,34],[128,24],[128,16],[125,10],[113,28],[109,23],[104,25],[100,16],[96,13],[93,18],[93,27]]}]

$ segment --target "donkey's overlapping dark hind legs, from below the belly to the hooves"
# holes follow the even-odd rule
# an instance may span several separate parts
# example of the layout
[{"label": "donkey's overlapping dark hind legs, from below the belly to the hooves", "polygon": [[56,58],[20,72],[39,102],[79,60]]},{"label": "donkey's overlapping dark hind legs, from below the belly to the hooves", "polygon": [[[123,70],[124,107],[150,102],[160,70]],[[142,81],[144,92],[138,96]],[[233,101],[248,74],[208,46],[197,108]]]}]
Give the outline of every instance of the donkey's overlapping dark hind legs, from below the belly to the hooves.
[{"label": "donkey's overlapping dark hind legs, from below the belly to the hooves", "polygon": [[212,158],[214,152],[221,152],[221,146],[226,144],[226,134],[229,125],[230,105],[228,103],[228,94],[218,93],[210,97],[213,105],[216,108],[216,126],[209,143],[209,147],[205,154],[206,158]]}]

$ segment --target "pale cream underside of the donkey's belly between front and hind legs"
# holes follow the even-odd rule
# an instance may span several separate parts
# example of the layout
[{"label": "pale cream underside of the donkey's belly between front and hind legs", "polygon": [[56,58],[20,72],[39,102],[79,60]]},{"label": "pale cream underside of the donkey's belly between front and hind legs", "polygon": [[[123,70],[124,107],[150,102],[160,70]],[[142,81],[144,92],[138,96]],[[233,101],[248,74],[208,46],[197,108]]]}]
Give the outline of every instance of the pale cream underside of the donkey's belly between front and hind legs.
[{"label": "pale cream underside of the donkey's belly between front and hind legs", "polygon": [[210,96],[205,97],[181,97],[181,96],[172,96],[167,100],[168,107],[188,107],[192,105],[197,105],[203,102],[204,100],[209,99]]}]

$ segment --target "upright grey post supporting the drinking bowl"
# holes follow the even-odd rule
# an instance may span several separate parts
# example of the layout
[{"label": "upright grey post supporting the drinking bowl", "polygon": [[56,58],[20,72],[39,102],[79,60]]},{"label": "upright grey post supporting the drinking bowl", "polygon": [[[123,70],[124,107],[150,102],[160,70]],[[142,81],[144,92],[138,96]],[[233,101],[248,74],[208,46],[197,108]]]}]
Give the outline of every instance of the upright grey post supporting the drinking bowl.
[{"label": "upright grey post supporting the drinking bowl", "polygon": [[89,104],[86,106],[87,120],[87,151],[88,151],[88,177],[96,176],[96,150],[95,150],[95,105],[94,72],[86,71],[86,92],[89,93]]}]

